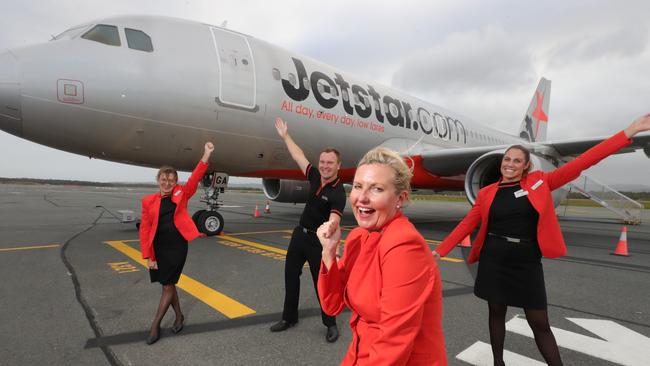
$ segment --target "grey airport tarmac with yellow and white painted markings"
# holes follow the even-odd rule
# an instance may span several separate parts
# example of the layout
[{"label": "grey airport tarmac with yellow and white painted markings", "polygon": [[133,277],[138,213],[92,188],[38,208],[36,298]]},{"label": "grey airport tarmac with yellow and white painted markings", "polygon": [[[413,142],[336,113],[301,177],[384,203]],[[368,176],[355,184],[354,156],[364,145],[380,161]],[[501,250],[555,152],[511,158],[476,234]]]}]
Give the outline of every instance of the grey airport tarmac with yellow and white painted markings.
[{"label": "grey airport tarmac with yellow and white painted markings", "polygon": [[[172,334],[170,309],[161,339],[147,346],[161,288],[142,264],[135,225],[121,223],[118,211],[139,215],[140,198],[149,193],[0,184],[0,364],[340,363],[350,342],[349,312],[338,317],[340,339],[327,343],[308,271],[300,322],[269,331],[281,317],[284,254],[303,205],[271,202],[265,214],[263,195],[237,191],[220,197],[224,235],[190,243],[179,282],[185,328]],[[190,211],[204,208],[199,193]],[[414,201],[404,212],[433,249],[468,209],[467,203]],[[623,257],[611,255],[623,225],[604,210],[570,208],[560,223],[568,254],[543,265],[564,364],[648,365],[650,224],[628,226],[630,256]],[[343,225],[354,224],[348,208]],[[460,248],[439,265],[449,364],[491,365],[487,305],[473,295],[473,268]],[[522,309],[510,308],[506,320],[506,363],[543,364]]]}]

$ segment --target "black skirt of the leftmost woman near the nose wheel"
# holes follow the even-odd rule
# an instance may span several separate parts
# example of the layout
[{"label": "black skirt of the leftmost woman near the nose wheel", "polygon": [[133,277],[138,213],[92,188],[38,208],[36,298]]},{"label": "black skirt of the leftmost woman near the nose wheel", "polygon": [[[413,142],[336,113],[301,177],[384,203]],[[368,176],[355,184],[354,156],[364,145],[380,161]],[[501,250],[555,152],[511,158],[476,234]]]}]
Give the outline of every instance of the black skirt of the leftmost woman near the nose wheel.
[{"label": "black skirt of the leftmost woman near the nose wheel", "polygon": [[151,282],[175,285],[181,277],[187,259],[187,240],[180,233],[156,234],[153,240],[158,269],[150,269]]}]

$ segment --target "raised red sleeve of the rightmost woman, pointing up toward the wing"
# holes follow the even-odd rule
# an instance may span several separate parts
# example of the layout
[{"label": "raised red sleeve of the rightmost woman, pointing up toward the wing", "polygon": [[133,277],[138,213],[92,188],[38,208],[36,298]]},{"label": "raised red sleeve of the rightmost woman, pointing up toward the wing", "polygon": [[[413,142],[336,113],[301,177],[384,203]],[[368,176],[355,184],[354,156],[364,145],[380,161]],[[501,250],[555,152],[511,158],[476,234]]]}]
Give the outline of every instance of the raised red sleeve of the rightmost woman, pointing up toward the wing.
[{"label": "raised red sleeve of the rightmost woman, pointing up toward the wing", "polygon": [[621,148],[632,143],[632,140],[621,131],[607,140],[599,143],[585,151],[577,158],[562,165],[561,167],[546,173],[546,179],[551,190],[558,189],[563,185],[578,178],[583,170],[588,169],[599,161],[605,159]]}]

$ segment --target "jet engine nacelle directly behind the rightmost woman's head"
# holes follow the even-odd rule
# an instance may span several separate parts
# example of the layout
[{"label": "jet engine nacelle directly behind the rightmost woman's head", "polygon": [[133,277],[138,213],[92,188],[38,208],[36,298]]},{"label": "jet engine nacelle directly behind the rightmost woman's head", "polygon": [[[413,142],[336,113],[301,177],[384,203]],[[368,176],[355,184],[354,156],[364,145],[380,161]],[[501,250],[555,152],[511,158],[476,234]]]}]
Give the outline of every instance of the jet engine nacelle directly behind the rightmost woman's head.
[{"label": "jet engine nacelle directly behind the rightmost woman's head", "polygon": [[[501,178],[501,159],[505,154],[505,149],[490,151],[476,159],[465,175],[465,194],[471,204],[474,204],[478,191]],[[549,160],[530,154],[530,161],[533,164],[531,171],[542,170],[545,172],[555,169],[555,165]],[[560,188],[553,191],[553,203],[557,207],[566,197],[568,191]]]}]

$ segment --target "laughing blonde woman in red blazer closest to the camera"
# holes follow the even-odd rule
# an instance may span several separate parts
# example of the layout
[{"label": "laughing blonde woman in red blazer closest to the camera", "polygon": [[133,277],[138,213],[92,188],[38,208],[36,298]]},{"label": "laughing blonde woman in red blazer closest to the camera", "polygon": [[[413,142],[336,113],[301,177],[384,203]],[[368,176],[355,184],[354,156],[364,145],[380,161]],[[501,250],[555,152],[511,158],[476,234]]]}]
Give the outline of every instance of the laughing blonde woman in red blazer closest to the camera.
[{"label": "laughing blonde woman in red blazer closest to the camera", "polygon": [[325,313],[352,311],[342,365],[447,365],[440,272],[424,238],[402,215],[411,172],[385,148],[361,159],[350,204],[359,227],[336,259],[341,230],[318,230],[323,245],[318,295]]}]

